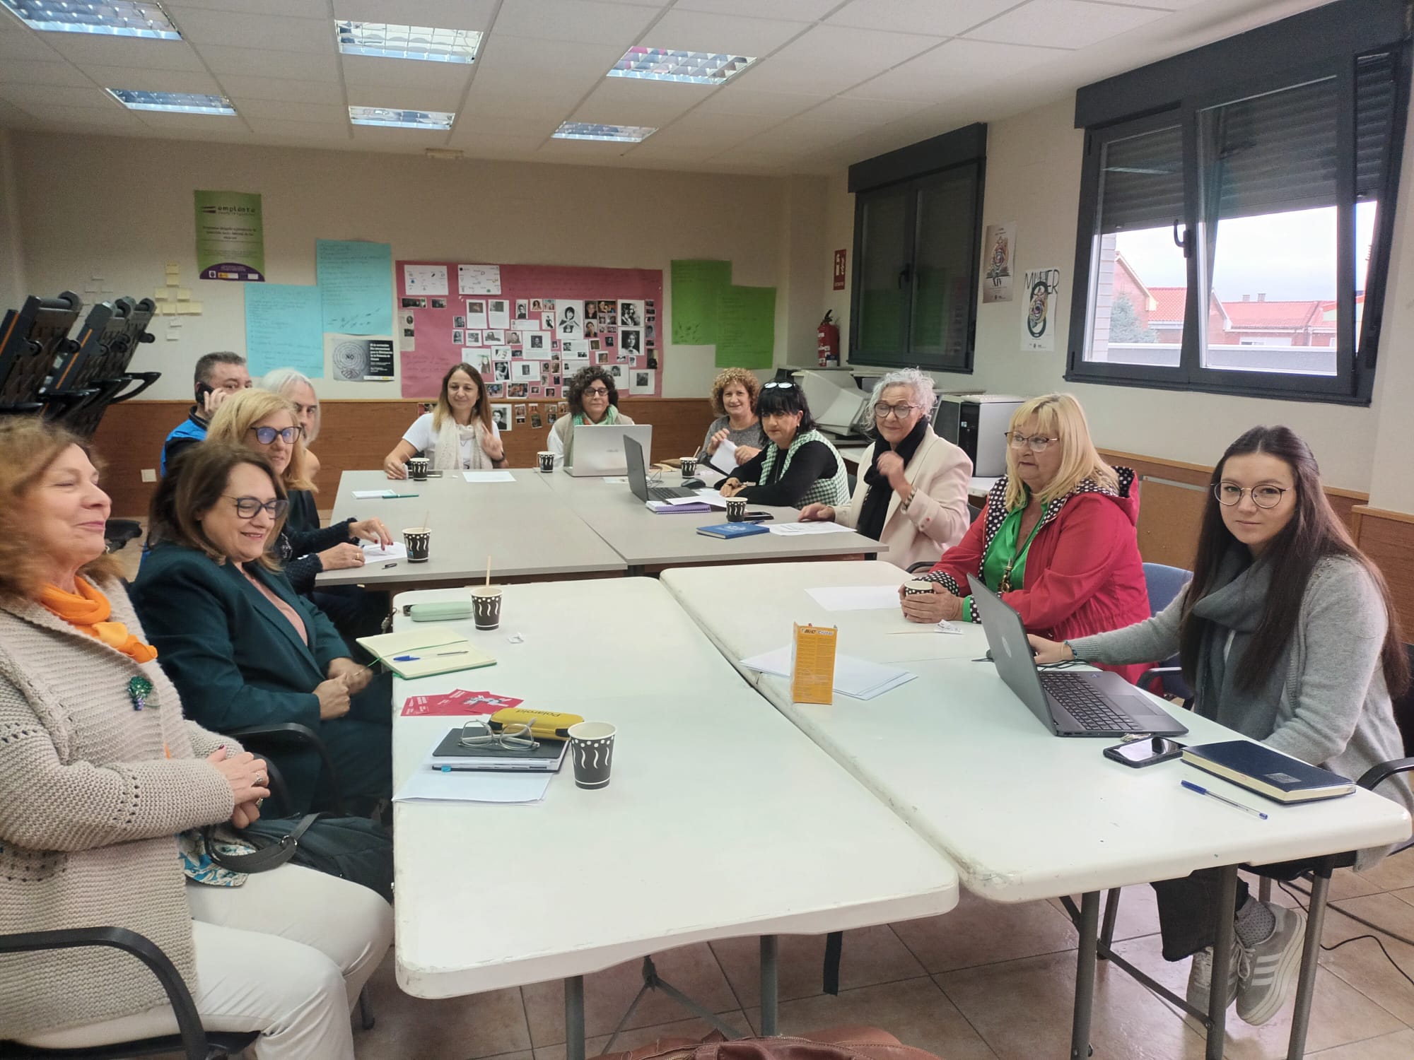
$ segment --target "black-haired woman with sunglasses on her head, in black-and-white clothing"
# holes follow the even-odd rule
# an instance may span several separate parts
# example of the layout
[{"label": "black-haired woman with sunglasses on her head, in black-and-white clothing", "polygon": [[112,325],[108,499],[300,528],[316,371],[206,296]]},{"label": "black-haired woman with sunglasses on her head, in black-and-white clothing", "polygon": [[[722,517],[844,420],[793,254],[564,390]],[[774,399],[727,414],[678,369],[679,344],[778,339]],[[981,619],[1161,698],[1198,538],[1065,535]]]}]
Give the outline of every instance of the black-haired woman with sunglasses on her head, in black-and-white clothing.
[{"label": "black-haired woman with sunglasses on her head, in black-and-white clothing", "polygon": [[756,399],[756,414],[769,444],[721,483],[724,497],[740,496],[752,505],[778,507],[836,507],[848,502],[844,461],[814,428],[800,387],[790,382],[766,383]]}]

